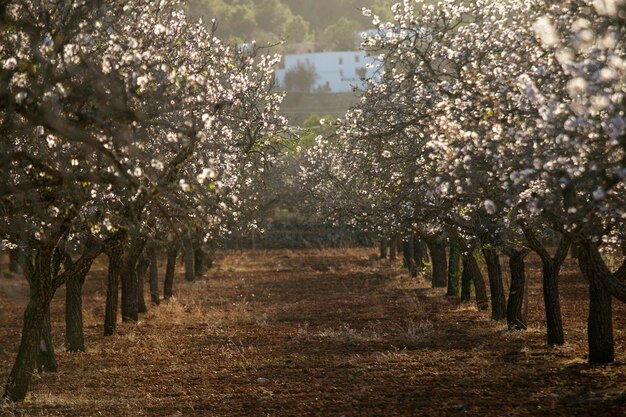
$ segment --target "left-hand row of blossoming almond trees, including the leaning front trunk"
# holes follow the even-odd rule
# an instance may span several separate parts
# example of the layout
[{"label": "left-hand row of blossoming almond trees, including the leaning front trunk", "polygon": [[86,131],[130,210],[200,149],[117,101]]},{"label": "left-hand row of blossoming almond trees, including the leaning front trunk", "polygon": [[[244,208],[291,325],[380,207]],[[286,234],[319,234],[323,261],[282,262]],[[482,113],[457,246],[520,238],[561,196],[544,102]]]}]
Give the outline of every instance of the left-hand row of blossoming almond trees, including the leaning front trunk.
[{"label": "left-hand row of blossoming almond trees, including the leaning front trunk", "polygon": [[135,321],[138,274],[148,260],[154,274],[160,247],[167,296],[181,242],[193,265],[254,210],[286,125],[272,92],[279,58],[227,46],[183,6],[0,2],[0,239],[30,287],[4,398],[24,399],[38,363],[56,369],[49,314],[62,285],[70,349],[84,349],[80,291],[97,256],[109,259],[112,334],[118,286]]}]

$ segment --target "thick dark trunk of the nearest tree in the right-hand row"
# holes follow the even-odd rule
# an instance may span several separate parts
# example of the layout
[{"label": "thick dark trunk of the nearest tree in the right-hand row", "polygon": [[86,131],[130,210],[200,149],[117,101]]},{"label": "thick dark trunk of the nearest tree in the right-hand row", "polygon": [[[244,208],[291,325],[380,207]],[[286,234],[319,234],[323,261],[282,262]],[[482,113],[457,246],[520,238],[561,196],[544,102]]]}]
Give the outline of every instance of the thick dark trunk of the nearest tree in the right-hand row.
[{"label": "thick dark trunk of the nearest tree in the right-hand row", "polygon": [[611,363],[615,359],[613,348],[613,311],[611,294],[604,287],[588,247],[579,247],[580,270],[589,281],[589,318],[587,340],[589,362]]}]

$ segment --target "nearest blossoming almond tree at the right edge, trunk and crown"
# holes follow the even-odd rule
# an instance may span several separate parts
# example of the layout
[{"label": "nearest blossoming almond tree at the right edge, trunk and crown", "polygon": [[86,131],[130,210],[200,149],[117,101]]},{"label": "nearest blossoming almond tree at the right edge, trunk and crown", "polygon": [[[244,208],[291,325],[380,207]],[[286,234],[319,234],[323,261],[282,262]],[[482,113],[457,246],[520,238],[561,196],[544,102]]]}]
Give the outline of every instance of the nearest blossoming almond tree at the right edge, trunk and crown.
[{"label": "nearest blossoming almond tree at the right edge, trunk and crown", "polygon": [[590,285],[589,360],[612,362],[611,296],[626,301],[626,264],[611,271],[600,251],[624,239],[625,5],[571,1],[534,23],[545,55],[519,81],[529,118],[520,138],[534,144],[526,168],[511,172],[531,215],[579,248]]}]

